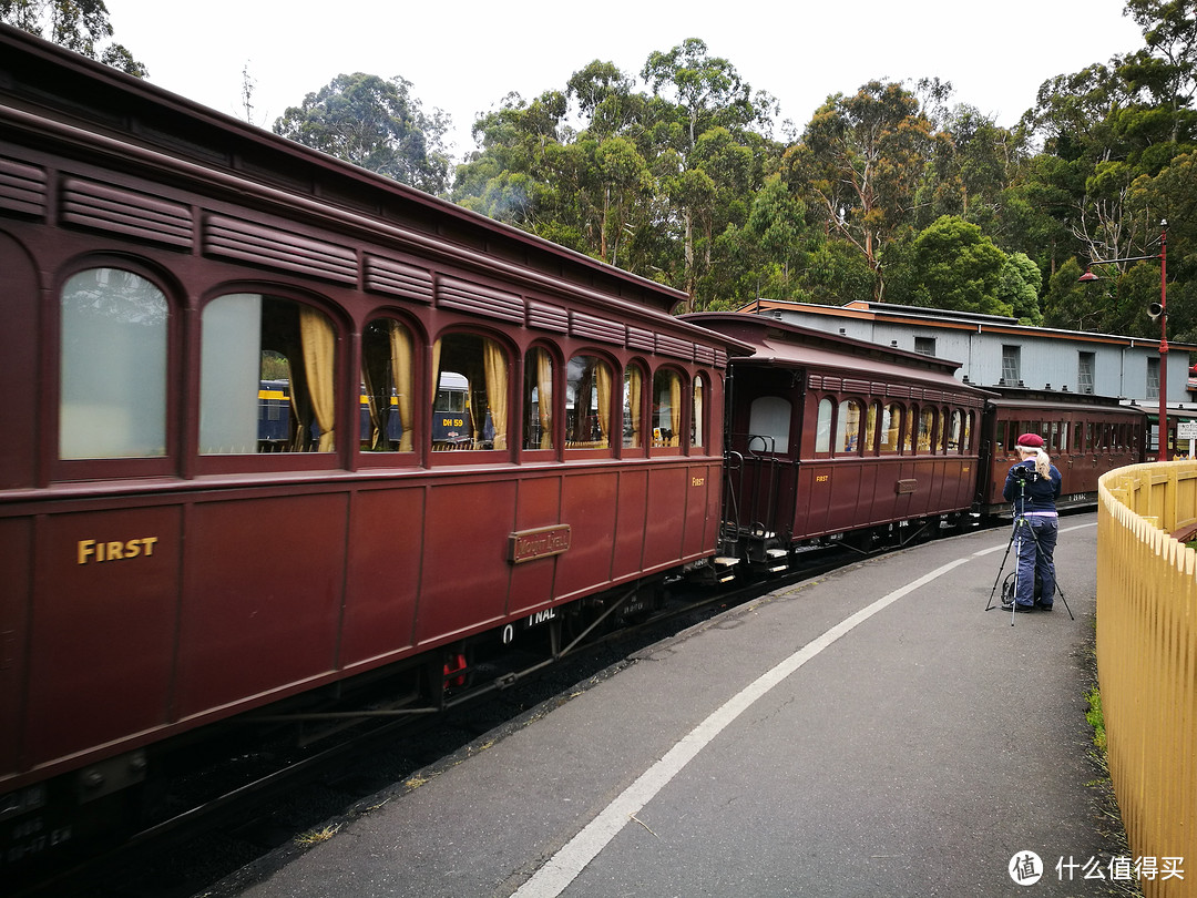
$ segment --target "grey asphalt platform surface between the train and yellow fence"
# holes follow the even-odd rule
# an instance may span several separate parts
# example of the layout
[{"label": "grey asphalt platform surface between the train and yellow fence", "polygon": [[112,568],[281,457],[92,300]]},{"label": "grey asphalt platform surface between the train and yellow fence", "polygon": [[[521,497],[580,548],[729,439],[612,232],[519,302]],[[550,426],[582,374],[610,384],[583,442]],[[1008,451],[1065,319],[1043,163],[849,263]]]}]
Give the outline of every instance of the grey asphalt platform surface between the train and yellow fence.
[{"label": "grey asphalt platform surface between the train and yellow fence", "polygon": [[985,611],[1007,544],[940,540],[734,608],[242,894],[1107,894],[1083,867],[1113,850],[1084,720],[1096,516],[1061,520],[1075,620],[1059,599]]}]

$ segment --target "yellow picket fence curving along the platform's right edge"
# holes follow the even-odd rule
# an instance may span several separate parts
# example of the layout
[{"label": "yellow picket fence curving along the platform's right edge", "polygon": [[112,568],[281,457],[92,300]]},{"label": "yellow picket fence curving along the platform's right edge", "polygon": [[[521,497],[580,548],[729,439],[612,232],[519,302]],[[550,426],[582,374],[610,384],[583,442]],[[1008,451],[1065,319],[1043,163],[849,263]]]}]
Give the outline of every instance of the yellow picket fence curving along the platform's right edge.
[{"label": "yellow picket fence curving along the platform's right edge", "polygon": [[1197,462],[1119,468],[1099,493],[1098,679],[1110,776],[1131,851],[1144,862],[1143,893],[1197,896],[1197,552],[1177,539],[1197,529]]}]

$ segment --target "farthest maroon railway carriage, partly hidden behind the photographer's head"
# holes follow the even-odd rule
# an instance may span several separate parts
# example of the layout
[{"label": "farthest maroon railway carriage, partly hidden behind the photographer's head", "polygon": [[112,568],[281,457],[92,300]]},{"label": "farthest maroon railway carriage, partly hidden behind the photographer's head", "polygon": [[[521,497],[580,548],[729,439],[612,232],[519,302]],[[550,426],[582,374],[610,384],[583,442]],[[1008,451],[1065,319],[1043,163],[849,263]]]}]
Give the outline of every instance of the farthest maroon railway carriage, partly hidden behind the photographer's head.
[{"label": "farthest maroon railway carriage, partly hidden behind the photographer's head", "polygon": [[986,387],[989,400],[982,426],[986,460],[979,481],[979,506],[986,515],[1009,514],[1002,498],[1005,474],[1019,461],[1014,448],[1022,433],[1044,438],[1063,478],[1058,508],[1098,502],[1098,479],[1114,468],[1146,459],[1148,418],[1141,406],[1120,405],[1110,396],[1023,387]]}]

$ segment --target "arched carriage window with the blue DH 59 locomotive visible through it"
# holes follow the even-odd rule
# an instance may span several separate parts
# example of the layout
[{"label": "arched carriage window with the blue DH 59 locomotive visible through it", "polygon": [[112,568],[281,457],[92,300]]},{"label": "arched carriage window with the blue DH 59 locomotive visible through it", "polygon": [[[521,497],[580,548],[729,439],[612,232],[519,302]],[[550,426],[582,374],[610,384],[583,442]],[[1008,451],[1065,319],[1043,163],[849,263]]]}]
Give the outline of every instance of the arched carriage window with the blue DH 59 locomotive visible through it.
[{"label": "arched carriage window with the blue DH 59 locomotive visible through it", "polygon": [[508,448],[508,354],[478,334],[449,334],[432,347],[437,389],[432,450]]}]

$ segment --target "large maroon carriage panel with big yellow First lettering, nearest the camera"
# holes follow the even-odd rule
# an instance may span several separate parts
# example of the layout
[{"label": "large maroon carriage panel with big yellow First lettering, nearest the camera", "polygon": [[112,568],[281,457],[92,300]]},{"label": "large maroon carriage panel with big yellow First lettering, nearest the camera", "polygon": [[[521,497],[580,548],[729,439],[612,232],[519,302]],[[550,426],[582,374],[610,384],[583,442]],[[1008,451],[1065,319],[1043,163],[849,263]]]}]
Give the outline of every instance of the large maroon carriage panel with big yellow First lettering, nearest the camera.
[{"label": "large maroon carriage panel with big yellow First lettering, nearest the camera", "polygon": [[30,766],[168,722],[181,521],[166,505],[36,522]]}]

